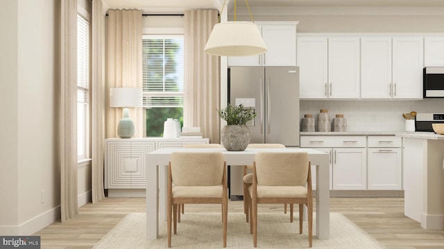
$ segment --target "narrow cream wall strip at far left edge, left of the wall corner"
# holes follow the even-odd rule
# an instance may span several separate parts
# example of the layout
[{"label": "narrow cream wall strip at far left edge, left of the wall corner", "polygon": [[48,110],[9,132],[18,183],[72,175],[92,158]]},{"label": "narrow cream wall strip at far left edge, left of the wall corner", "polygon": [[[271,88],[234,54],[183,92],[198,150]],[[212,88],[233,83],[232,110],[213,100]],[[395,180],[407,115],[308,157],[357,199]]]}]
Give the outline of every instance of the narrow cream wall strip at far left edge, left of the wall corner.
[{"label": "narrow cream wall strip at far left edge, left of the wall corner", "polygon": [[1,226],[17,224],[17,1],[1,0],[0,33],[0,234]]}]

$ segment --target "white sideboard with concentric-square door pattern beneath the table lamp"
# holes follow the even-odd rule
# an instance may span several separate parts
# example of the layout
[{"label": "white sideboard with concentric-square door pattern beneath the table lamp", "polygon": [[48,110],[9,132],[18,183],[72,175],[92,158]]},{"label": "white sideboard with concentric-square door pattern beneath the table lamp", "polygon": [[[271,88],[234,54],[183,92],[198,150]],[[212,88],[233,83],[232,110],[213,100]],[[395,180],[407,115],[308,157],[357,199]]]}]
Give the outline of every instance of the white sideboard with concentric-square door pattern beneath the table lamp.
[{"label": "white sideboard with concentric-square door pattern beneath the table lamp", "polygon": [[150,151],[208,142],[208,138],[105,139],[105,189],[108,189],[108,196],[145,196],[145,158]]}]

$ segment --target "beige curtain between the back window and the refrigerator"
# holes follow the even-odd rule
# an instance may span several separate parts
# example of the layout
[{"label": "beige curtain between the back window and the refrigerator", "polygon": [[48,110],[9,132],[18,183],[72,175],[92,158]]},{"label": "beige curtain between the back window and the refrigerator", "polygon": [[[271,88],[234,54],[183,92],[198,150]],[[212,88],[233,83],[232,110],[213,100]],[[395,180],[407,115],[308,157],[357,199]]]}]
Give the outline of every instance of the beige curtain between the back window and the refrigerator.
[{"label": "beige curtain between the back window and the refrigerator", "polygon": [[220,59],[207,55],[203,48],[217,22],[217,10],[185,11],[184,127],[200,127],[212,143],[220,142],[220,118],[216,112],[220,105]]}]

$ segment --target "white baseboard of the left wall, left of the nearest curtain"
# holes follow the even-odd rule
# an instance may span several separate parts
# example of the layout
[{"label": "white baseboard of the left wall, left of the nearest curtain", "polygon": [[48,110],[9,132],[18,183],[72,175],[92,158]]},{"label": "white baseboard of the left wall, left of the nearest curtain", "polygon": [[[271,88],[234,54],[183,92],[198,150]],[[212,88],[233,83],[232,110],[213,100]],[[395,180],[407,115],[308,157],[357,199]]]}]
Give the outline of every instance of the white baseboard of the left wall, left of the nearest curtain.
[{"label": "white baseboard of the left wall, left of the nearest curtain", "polygon": [[5,236],[31,235],[42,230],[51,223],[60,221],[60,205],[39,214],[19,225],[0,225],[0,234]]}]

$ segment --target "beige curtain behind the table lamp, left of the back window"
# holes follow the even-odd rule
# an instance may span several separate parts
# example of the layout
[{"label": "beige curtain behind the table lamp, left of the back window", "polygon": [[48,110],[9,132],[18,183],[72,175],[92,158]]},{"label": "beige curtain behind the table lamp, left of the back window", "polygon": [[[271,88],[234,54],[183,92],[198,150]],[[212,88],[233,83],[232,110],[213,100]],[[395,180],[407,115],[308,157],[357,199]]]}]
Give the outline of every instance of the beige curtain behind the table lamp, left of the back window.
[{"label": "beige curtain behind the table lamp, left of the back window", "polygon": [[[106,138],[118,138],[117,124],[121,108],[110,108],[110,89],[117,87],[142,89],[142,11],[108,10]],[[135,126],[135,138],[142,138],[144,120],[142,108],[130,108]]]}]

